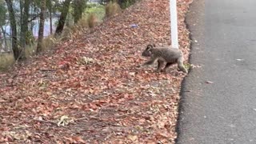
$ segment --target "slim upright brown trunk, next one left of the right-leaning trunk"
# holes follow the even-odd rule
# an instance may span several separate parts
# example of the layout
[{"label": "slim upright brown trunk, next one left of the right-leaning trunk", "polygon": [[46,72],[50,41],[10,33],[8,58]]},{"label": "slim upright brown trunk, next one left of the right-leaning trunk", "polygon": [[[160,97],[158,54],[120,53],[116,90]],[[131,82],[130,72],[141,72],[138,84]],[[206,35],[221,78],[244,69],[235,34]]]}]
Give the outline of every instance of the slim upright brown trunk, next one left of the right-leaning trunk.
[{"label": "slim upright brown trunk, next one left of the right-leaning trunk", "polygon": [[44,23],[45,23],[45,12],[46,12],[46,0],[42,0],[41,1],[40,24],[39,24],[39,30],[38,30],[37,53],[42,51],[43,30],[44,30]]}]

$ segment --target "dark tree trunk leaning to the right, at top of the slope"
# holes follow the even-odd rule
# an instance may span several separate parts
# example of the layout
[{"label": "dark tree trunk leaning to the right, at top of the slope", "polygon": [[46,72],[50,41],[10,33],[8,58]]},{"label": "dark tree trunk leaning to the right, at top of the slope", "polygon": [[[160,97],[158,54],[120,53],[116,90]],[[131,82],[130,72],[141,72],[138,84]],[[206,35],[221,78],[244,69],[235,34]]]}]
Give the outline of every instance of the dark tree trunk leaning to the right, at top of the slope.
[{"label": "dark tree trunk leaning to the right, at top of the slope", "polygon": [[65,0],[65,2],[63,2],[62,14],[58,20],[58,26],[54,34],[55,37],[62,34],[62,30],[64,29],[65,22],[66,22],[66,16],[69,12],[70,2],[71,0]]}]

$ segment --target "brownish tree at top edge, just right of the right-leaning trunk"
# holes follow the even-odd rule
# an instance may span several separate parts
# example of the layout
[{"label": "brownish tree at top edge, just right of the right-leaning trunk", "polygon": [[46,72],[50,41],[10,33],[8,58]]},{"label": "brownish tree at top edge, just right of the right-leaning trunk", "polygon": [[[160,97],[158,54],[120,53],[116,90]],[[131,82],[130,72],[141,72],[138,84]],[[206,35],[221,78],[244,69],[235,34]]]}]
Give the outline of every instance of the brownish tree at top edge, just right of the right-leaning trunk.
[{"label": "brownish tree at top edge, just right of the right-leaning trunk", "polygon": [[74,0],[74,23],[77,23],[82,18],[82,13],[86,9],[87,0]]}]

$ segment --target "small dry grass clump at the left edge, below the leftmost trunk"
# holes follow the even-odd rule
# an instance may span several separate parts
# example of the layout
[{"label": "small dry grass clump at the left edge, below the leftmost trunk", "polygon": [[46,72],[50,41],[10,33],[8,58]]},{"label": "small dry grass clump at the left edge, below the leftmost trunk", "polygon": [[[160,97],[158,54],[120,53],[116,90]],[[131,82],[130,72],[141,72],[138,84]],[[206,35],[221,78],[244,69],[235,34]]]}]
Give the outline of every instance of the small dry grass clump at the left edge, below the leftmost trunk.
[{"label": "small dry grass clump at the left edge, below the leftmost trunk", "polygon": [[14,54],[11,52],[0,53],[0,70],[6,70],[15,62]]}]

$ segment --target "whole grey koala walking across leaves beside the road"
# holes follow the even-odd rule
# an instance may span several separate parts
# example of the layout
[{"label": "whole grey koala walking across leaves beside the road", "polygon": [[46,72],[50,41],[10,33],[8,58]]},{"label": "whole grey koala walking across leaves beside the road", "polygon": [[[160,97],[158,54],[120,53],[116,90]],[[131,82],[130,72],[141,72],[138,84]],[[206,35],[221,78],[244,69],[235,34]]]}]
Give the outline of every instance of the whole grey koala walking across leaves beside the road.
[{"label": "whole grey koala walking across leaves beside the road", "polygon": [[166,71],[166,69],[177,63],[178,69],[182,70],[184,73],[187,73],[186,68],[183,65],[183,54],[181,50],[178,50],[176,48],[173,48],[171,46],[154,46],[154,45],[148,45],[146,46],[146,50],[142,52],[143,57],[150,57],[150,60],[145,62],[143,66],[145,65],[152,65],[154,62],[158,62],[158,68],[157,72],[159,72],[164,66],[164,63],[166,62],[166,65],[164,66],[164,69],[162,71]]}]

